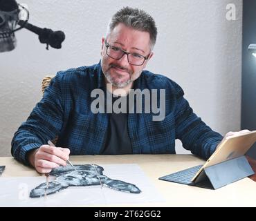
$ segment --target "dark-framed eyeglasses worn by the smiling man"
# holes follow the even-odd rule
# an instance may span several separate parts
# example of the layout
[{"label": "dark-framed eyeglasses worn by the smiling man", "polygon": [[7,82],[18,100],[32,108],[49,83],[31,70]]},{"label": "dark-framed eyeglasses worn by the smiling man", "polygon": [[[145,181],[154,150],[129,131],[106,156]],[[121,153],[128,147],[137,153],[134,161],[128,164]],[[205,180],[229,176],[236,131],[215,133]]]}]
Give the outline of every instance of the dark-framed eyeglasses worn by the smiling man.
[{"label": "dark-framed eyeglasses worn by the smiling man", "polygon": [[127,59],[129,64],[135,65],[135,66],[141,66],[144,64],[145,60],[149,58],[149,55],[147,57],[144,57],[143,55],[139,55],[134,52],[126,52],[125,50],[122,50],[122,48],[118,48],[116,46],[111,46],[107,44],[107,41],[105,41],[105,46],[107,48],[107,55],[113,59],[119,60],[122,56],[127,55]]}]

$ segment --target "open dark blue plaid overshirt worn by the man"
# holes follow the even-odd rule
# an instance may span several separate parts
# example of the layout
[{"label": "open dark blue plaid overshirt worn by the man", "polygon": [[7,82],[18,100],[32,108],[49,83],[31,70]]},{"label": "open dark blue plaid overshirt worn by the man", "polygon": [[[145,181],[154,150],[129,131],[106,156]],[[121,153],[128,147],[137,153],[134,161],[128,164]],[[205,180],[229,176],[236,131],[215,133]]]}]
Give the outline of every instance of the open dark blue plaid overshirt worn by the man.
[{"label": "open dark blue plaid overshirt worn by the man", "polygon": [[[60,71],[46,88],[44,97],[12,138],[12,155],[28,164],[26,153],[58,136],[57,146],[71,155],[100,153],[107,131],[107,113],[91,112],[91,91],[104,86],[100,63]],[[165,119],[152,121],[153,113],[129,113],[128,133],[134,154],[175,153],[175,139],[195,155],[207,159],[222,136],[197,117],[182,88],[163,75],[143,70],[134,89],[165,89]],[[143,99],[144,102],[144,99]],[[136,106],[136,99],[134,102]]]}]

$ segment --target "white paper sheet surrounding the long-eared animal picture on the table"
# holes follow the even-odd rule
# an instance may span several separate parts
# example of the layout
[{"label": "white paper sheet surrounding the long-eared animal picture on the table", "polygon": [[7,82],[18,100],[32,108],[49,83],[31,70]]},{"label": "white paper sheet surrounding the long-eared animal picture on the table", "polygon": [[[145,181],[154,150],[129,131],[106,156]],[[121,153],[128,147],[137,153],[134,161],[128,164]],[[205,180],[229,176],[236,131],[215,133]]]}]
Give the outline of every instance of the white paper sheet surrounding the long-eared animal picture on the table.
[{"label": "white paper sheet surrounding the long-eared animal picture on the table", "polygon": [[141,193],[125,193],[97,186],[70,186],[42,198],[29,198],[31,189],[46,177],[0,177],[0,206],[93,206],[94,204],[137,204],[164,202],[137,164],[99,164],[104,175],[138,186]]}]

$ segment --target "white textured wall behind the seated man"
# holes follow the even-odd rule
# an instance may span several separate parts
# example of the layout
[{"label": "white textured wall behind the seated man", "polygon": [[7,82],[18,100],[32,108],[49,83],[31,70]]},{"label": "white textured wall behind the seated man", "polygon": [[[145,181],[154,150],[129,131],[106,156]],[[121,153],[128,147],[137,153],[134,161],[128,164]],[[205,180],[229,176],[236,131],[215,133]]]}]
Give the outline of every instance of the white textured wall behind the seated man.
[{"label": "white textured wall behind the seated man", "polygon": [[214,130],[239,130],[241,0],[232,0],[236,21],[226,19],[229,0],[18,2],[28,5],[30,23],[63,30],[66,39],[61,50],[46,50],[36,35],[20,30],[17,48],[0,53],[1,156],[10,155],[13,133],[42,97],[45,75],[98,63],[109,18],[122,6],[143,8],[156,20],[159,34],[147,69],[179,83],[195,113]]}]

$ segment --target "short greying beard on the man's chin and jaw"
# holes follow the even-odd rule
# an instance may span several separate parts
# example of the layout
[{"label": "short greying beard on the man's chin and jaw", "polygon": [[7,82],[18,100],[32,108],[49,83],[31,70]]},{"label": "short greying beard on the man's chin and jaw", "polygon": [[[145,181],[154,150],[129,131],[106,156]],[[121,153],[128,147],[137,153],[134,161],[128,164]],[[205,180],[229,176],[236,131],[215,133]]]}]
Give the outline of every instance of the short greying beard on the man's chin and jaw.
[{"label": "short greying beard on the man's chin and jaw", "polygon": [[[129,79],[122,81],[122,82],[118,81],[118,79],[120,79],[122,76],[118,77],[118,73],[116,73],[117,77],[112,77],[111,73],[110,73],[111,68],[120,68],[121,70],[125,70],[127,72],[127,74],[129,74]],[[127,68],[123,68],[116,64],[110,64],[109,68],[107,68],[106,71],[103,71],[103,68],[102,68],[102,73],[106,77],[107,81],[109,81],[109,83],[112,84],[113,86],[115,86],[116,88],[125,88],[125,86],[127,86],[128,84],[130,84],[133,81],[131,79],[131,74],[132,74],[131,71],[129,71]]]}]

